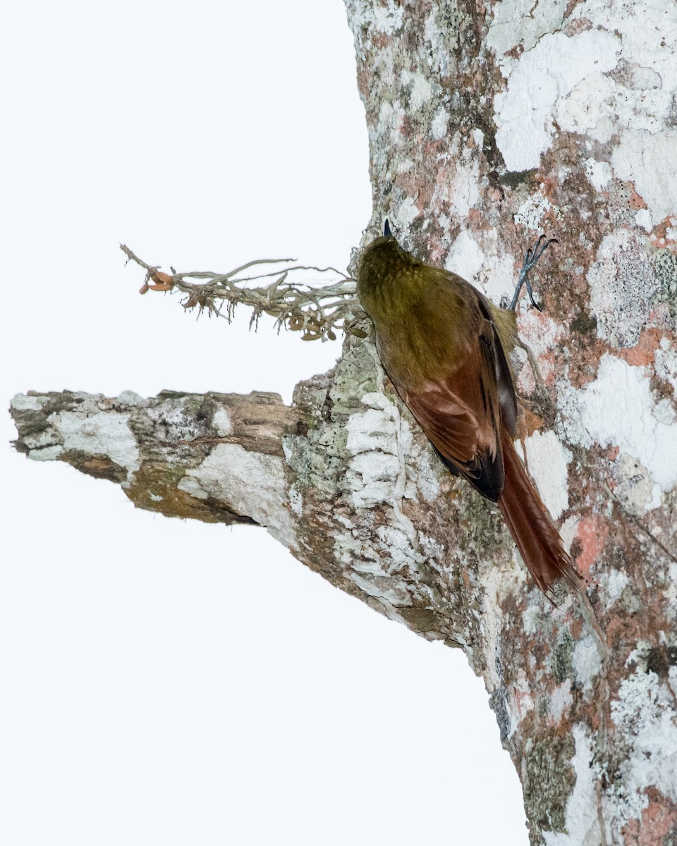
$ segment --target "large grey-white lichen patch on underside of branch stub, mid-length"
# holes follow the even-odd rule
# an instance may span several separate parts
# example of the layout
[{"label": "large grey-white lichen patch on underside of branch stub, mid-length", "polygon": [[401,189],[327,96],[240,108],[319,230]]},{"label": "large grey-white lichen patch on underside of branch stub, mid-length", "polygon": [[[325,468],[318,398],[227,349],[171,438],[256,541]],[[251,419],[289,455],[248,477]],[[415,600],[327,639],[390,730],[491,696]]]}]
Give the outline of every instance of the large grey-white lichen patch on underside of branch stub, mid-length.
[{"label": "large grey-white lichen patch on underside of branch stub, mid-length", "polygon": [[289,549],[296,549],[294,519],[289,504],[283,459],[248,452],[239,443],[220,443],[206,459],[186,470],[177,485],[197,499],[212,497],[235,514],[265,526]]}]

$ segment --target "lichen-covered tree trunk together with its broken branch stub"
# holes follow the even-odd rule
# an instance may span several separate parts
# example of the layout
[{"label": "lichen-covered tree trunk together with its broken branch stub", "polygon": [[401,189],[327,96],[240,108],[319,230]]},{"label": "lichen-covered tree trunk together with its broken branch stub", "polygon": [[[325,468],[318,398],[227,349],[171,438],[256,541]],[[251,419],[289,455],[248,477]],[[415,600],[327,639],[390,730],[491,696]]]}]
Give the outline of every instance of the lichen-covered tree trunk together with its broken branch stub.
[{"label": "lichen-covered tree trunk together with its broken branch stub", "polygon": [[[677,17],[645,3],[346,0],[374,222],[509,294],[532,475],[590,602],[553,609],[496,508],[446,473],[369,339],[274,394],[14,399],[17,446],[141,508],[264,525],[487,685],[532,843],[677,843]],[[537,280],[538,281],[538,280]],[[547,282],[547,284],[546,284]],[[518,350],[518,352],[520,352]]]}]

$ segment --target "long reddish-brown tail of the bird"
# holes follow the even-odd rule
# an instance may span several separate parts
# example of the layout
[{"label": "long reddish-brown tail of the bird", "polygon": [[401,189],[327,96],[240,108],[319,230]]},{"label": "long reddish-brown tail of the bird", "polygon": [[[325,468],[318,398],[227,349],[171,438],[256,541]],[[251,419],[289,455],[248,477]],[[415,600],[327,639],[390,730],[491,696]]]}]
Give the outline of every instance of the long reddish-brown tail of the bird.
[{"label": "long reddish-brown tail of the bird", "polygon": [[565,552],[548,509],[526,475],[524,464],[506,431],[503,433],[501,447],[505,484],[503,493],[498,497],[498,508],[504,515],[510,534],[532,579],[548,599],[551,586],[559,579],[566,579],[577,591],[581,591],[581,576],[571,563],[569,553]]}]

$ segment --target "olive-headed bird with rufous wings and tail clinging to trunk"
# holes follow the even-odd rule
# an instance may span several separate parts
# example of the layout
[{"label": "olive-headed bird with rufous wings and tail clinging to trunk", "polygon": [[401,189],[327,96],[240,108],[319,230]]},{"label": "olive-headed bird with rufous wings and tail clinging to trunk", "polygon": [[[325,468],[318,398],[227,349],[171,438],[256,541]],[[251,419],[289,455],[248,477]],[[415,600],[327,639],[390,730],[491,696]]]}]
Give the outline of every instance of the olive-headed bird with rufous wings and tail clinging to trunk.
[{"label": "olive-headed bird with rufous wings and tail clinging to trunk", "polygon": [[[454,475],[498,503],[537,587],[581,577],[515,450],[517,393],[509,353],[515,305],[527,274],[553,239],[527,250],[508,309],[493,305],[454,272],[404,250],[390,229],[362,250],[357,296],[371,317],[383,369]],[[538,306],[537,306],[538,308]]]}]

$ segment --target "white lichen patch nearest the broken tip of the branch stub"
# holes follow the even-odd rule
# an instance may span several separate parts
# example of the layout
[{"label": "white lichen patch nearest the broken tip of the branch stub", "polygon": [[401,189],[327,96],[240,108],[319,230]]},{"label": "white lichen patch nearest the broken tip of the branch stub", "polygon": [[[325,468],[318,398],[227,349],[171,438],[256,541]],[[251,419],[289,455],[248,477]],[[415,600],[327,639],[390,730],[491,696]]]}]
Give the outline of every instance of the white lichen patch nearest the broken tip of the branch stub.
[{"label": "white lichen patch nearest the broken tip of the branch stub", "polygon": [[81,411],[59,411],[49,416],[48,423],[63,438],[64,450],[77,449],[90,455],[107,455],[129,473],[139,469],[140,452],[129,428],[129,414],[99,411],[85,417]]}]

